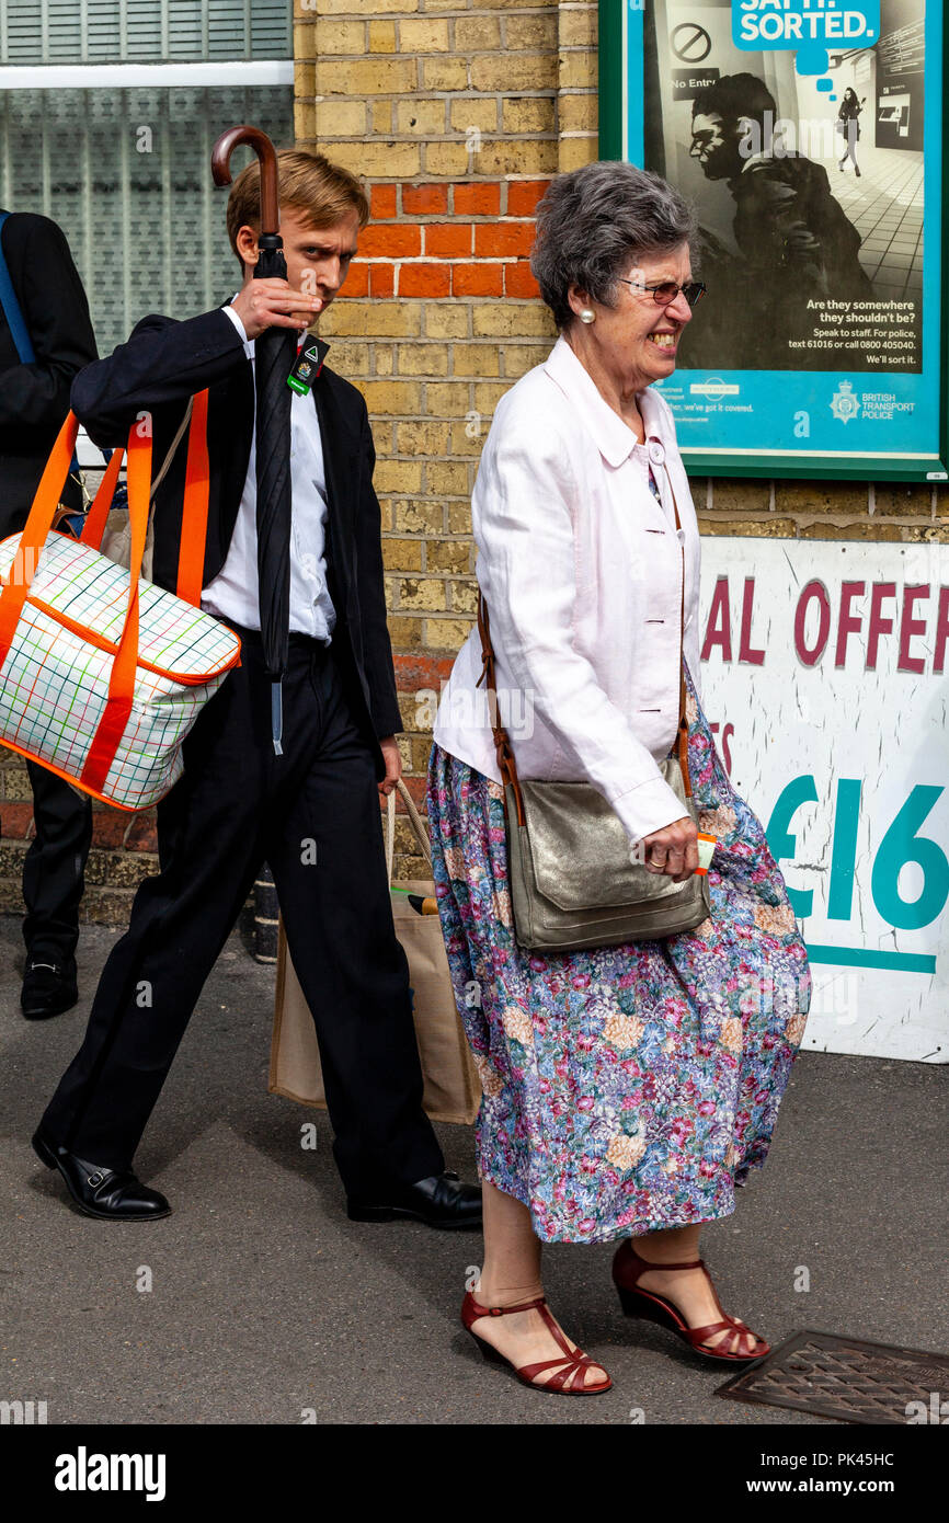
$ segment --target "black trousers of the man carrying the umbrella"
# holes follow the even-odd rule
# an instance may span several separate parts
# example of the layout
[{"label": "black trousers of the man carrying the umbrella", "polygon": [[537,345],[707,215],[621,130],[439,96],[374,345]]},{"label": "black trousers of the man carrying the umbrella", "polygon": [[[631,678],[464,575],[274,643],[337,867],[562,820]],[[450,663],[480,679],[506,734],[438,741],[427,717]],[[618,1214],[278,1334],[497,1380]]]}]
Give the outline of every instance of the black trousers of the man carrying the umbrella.
[{"label": "black trousers of the man carrying the umbrella", "polygon": [[408,964],[396,940],[370,742],[338,641],[291,635],[283,755],[271,742],[260,637],[233,626],[242,664],[184,740],[157,807],[160,873],[108,956],[85,1040],[43,1127],[79,1157],[125,1168],[262,862],[314,1016],[334,1156],[347,1194],[445,1167],[422,1110]]}]

